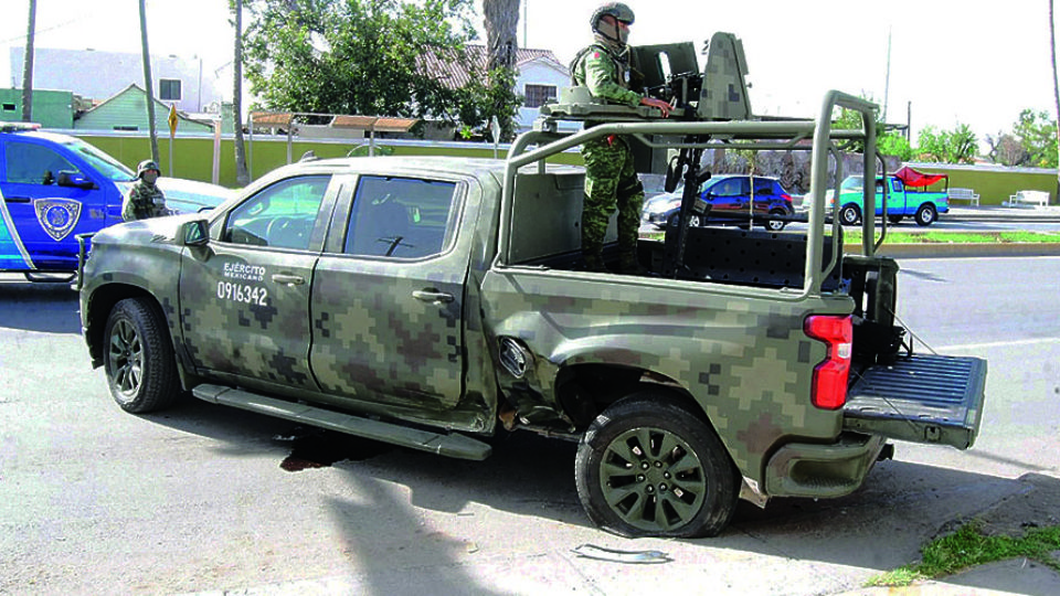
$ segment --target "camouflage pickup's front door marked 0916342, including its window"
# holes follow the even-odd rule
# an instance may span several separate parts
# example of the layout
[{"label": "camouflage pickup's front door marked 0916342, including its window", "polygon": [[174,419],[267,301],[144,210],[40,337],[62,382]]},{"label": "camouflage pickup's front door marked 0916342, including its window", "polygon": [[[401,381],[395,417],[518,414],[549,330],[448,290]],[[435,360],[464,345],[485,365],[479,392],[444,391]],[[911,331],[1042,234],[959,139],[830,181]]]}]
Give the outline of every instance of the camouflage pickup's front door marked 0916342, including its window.
[{"label": "camouflage pickup's front door marked 0916342, including its window", "polygon": [[337,194],[330,182],[303,175],[265,187],[214,223],[220,238],[187,249],[179,310],[197,369],[247,386],[317,389],[309,289]]}]

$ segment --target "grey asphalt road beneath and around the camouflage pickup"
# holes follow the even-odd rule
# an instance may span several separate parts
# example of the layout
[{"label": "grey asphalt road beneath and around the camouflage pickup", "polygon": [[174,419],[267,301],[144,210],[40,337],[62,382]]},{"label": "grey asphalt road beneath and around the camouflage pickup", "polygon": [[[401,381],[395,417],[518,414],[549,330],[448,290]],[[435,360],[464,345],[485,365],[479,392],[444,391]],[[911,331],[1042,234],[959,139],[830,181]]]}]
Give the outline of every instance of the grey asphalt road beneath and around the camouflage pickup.
[{"label": "grey asphalt road beneath and around the camouflage pickup", "polygon": [[[0,594],[856,588],[1026,490],[1022,475],[1060,482],[1060,258],[902,265],[905,323],[940,352],[989,359],[975,448],[899,444],[852,496],[742,503],[724,534],[696,541],[595,530],[574,491],[574,447],[532,435],[468,462],[194,400],[124,414],[88,365],[74,294],[2,278]],[[583,558],[582,544],[667,561]]]}]

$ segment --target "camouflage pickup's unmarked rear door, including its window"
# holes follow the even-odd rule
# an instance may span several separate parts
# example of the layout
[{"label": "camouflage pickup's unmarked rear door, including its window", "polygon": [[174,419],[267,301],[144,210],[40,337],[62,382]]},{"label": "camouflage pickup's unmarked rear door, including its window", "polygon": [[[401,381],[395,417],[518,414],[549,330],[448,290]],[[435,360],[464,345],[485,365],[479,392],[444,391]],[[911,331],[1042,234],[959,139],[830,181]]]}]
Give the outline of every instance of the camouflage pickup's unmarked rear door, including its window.
[{"label": "camouflage pickup's unmarked rear door, including its window", "polygon": [[312,276],[322,391],[416,408],[459,401],[468,253],[455,246],[468,184],[361,175],[340,202]]}]

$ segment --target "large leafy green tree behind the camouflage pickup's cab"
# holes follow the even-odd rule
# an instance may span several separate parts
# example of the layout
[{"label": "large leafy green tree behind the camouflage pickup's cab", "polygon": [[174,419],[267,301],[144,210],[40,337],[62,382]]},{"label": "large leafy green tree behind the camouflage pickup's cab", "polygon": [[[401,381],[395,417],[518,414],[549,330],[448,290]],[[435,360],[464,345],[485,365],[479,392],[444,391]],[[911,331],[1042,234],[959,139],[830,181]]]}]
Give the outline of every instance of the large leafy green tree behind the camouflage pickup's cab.
[{"label": "large leafy green tree behind the camouflage pickup's cab", "polygon": [[[266,107],[288,111],[433,118],[481,127],[496,99],[480,89],[465,44],[473,0],[251,0],[247,79]],[[456,86],[443,67],[475,71]],[[477,70],[476,70],[477,68]],[[511,79],[513,83],[513,78]],[[511,92],[507,105],[518,100]],[[516,104],[518,105],[518,104]]]}]

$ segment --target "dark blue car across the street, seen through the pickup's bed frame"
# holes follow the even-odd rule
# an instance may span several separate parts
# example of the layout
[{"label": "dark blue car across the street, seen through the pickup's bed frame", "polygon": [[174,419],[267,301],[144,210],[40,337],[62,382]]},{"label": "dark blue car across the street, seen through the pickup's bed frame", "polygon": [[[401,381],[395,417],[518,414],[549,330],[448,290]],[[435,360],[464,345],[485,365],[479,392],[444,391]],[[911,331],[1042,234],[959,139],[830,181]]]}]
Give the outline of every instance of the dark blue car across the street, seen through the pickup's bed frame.
[{"label": "dark blue car across the street, seen through the pickup's bed frame", "polygon": [[[677,224],[678,211],[681,206],[683,188],[678,187],[674,192],[659,194],[645,201],[642,210],[642,221],[658,228]],[[751,214],[751,177],[746,174],[723,174],[711,178],[703,183],[700,192],[709,206],[706,217],[691,214],[689,225],[743,224],[746,225]],[[774,217],[785,217],[795,213],[792,195],[784,190],[775,178],[754,177],[754,223],[763,225],[773,232],[780,232],[787,225],[786,221]]]}]

